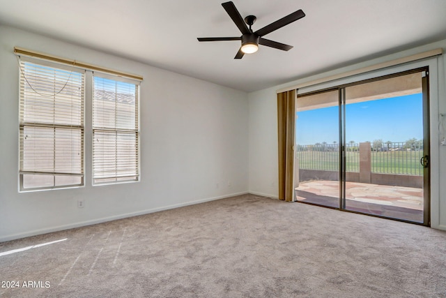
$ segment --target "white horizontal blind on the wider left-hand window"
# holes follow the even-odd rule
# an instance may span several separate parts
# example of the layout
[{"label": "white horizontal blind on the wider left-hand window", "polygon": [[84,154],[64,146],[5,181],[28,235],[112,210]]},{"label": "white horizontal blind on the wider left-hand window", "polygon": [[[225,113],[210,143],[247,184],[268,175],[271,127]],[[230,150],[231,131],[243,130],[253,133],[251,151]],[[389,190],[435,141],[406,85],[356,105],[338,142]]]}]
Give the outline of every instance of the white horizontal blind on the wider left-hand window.
[{"label": "white horizontal blind on the wider left-hand window", "polygon": [[47,65],[20,61],[21,190],[84,183],[84,72]]}]

